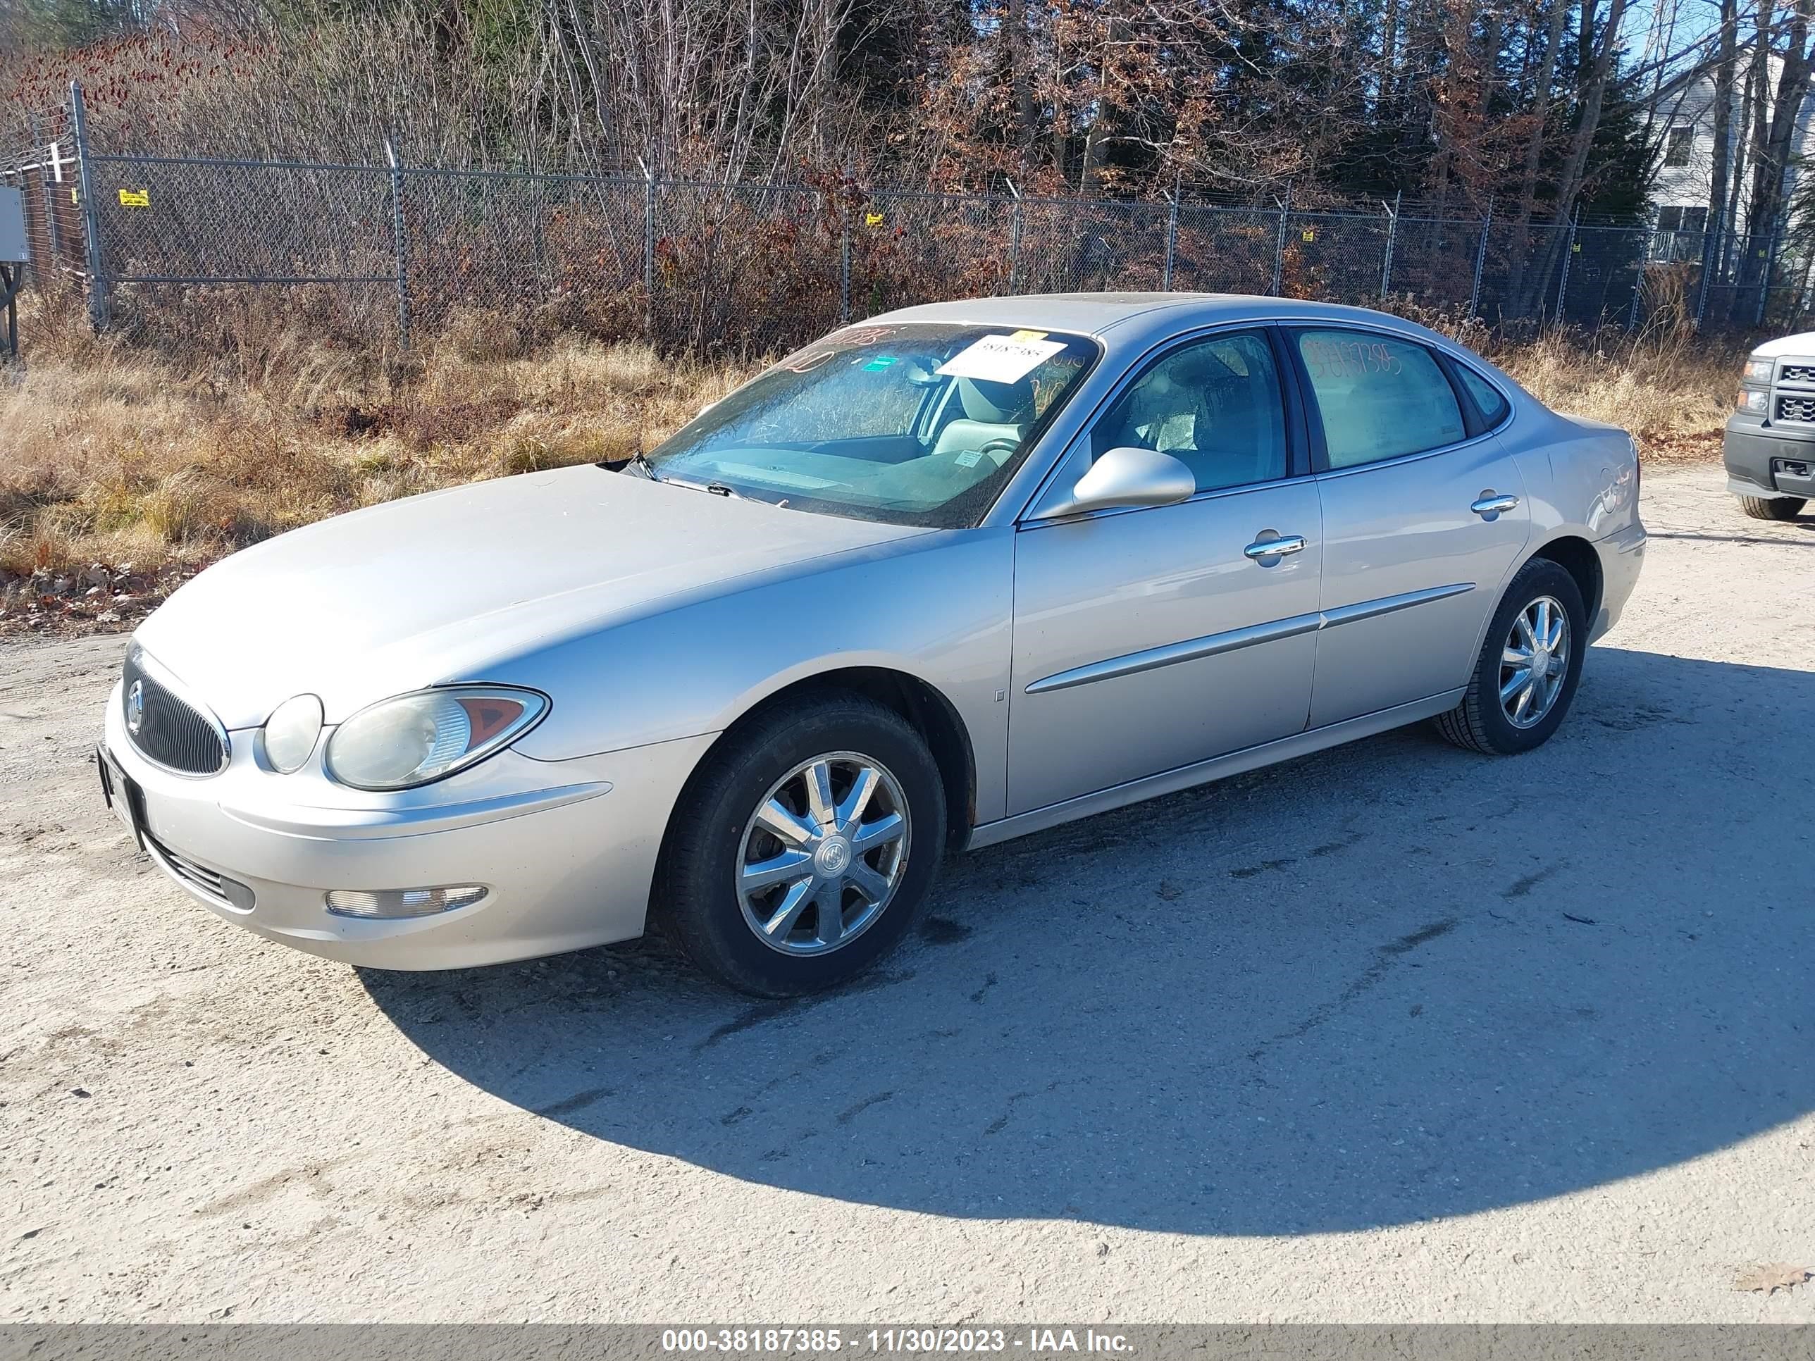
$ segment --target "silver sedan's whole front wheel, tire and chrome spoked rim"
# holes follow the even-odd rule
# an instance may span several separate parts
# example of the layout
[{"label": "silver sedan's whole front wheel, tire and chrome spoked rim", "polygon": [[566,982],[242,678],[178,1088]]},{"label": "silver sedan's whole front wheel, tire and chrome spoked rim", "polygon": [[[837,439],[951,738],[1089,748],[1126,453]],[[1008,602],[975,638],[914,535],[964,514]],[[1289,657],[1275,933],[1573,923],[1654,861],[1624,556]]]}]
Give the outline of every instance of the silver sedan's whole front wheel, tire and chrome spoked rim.
[{"label": "silver sedan's whole front wheel, tire and chrome spoked rim", "polygon": [[900,942],[944,840],[944,784],[913,726],[820,693],[757,717],[688,782],[655,911],[731,987],[817,993]]}]

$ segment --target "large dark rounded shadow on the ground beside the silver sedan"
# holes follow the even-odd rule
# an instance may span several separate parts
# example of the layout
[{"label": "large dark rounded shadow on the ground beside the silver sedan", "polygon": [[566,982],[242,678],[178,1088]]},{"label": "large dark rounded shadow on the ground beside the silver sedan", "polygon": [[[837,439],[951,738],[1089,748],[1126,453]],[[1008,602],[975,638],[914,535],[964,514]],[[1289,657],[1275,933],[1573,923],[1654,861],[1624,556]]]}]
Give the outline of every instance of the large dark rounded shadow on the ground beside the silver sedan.
[{"label": "large dark rounded shadow on the ground beside the silver sedan", "polygon": [[1815,675],[1595,648],[1517,760],[1423,729],[947,866],[842,993],[659,945],[365,973],[597,1138],[846,1201],[1281,1234],[1643,1174],[1815,1105]]}]

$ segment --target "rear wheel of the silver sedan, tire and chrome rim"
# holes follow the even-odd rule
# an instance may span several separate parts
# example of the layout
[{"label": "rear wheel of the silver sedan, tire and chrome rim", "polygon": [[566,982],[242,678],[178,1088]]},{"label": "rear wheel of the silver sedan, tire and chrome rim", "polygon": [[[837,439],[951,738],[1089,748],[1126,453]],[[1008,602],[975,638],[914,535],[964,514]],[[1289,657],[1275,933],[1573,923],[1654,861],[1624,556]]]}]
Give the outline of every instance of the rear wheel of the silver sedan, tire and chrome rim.
[{"label": "rear wheel of the silver sedan, tire and chrome rim", "polygon": [[1519,568],[1494,612],[1463,702],[1437,717],[1456,746],[1514,757],[1543,746],[1575,697],[1588,617],[1575,577],[1545,557]]}]

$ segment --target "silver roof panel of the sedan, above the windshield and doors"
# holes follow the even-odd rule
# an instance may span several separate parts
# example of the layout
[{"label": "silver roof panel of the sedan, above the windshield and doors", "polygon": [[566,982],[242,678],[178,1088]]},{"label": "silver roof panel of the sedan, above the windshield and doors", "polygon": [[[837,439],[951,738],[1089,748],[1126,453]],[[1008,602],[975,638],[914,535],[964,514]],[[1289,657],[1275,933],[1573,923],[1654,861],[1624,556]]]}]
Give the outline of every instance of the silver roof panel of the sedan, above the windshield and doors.
[{"label": "silver roof panel of the sedan, above the windshield and doors", "polygon": [[1298,298],[1265,298],[1240,292],[1035,292],[1006,298],[962,298],[949,303],[922,303],[869,318],[869,321],[947,321],[980,327],[1044,327],[1102,336],[1162,312],[1192,312],[1192,323],[1245,321],[1263,318],[1359,321],[1390,325],[1428,339],[1441,339],[1427,327],[1367,307],[1312,303]]}]

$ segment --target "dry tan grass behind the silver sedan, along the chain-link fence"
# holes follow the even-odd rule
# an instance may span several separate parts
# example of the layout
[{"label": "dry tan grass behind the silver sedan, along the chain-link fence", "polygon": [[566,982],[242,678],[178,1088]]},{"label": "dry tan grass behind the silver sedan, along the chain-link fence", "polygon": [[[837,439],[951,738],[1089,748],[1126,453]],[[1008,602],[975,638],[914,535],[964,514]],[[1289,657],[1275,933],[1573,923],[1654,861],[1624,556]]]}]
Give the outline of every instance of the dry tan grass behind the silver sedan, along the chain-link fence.
[{"label": "dry tan grass behind the silver sedan, along the chain-link fence", "polygon": [[[0,632],[127,622],[209,561],[323,515],[628,457],[748,372],[534,347],[483,312],[407,359],[303,334],[274,321],[180,361],[34,325],[29,363],[0,370]],[[1717,457],[1742,356],[1683,336],[1488,348],[1552,406],[1630,428],[1648,461]]]}]

